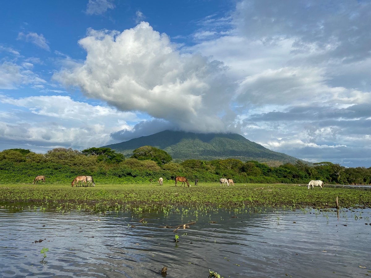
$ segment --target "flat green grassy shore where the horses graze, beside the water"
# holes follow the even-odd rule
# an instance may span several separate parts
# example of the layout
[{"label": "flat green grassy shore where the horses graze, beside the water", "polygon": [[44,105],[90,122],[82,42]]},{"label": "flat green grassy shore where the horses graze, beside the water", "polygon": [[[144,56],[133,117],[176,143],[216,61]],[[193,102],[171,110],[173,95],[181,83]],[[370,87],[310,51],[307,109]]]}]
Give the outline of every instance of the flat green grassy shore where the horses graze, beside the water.
[{"label": "flat green grassy shore where the horses graze, beside the water", "polygon": [[293,207],[334,208],[336,196],[341,207],[371,207],[371,192],[345,188],[314,188],[305,185],[246,184],[220,187],[219,183],[201,183],[191,188],[164,184],[96,185],[71,187],[59,184],[2,184],[0,202],[27,202],[50,208],[107,208],[168,205],[211,205],[219,207]]}]

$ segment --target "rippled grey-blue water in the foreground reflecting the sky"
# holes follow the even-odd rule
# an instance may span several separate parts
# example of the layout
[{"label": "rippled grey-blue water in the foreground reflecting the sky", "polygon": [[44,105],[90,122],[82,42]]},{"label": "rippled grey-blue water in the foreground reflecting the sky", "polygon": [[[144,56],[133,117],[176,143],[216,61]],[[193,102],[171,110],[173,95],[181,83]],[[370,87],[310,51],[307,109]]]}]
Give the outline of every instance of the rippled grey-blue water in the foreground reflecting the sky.
[{"label": "rippled grey-blue water in the foreground reflecting the sky", "polygon": [[[371,275],[371,209],[344,209],[339,217],[313,209],[178,209],[99,215],[1,208],[0,277],[162,277],[164,266],[168,278],[206,278],[209,269],[224,278]],[[192,220],[177,233],[164,228]]]}]

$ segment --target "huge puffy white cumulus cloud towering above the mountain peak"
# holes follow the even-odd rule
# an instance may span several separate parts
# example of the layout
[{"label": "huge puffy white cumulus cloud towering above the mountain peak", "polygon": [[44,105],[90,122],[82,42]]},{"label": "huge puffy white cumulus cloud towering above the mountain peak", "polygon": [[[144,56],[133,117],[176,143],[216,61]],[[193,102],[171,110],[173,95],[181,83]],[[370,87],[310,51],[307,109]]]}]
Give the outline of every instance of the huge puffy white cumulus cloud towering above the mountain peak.
[{"label": "huge puffy white cumulus cloud towering above the mountain peak", "polygon": [[64,85],[184,130],[225,130],[220,115],[233,113],[228,105],[233,84],[223,77],[220,62],[180,54],[146,22],[122,33],[89,30],[79,44],[87,52],[85,62],[54,75]]}]

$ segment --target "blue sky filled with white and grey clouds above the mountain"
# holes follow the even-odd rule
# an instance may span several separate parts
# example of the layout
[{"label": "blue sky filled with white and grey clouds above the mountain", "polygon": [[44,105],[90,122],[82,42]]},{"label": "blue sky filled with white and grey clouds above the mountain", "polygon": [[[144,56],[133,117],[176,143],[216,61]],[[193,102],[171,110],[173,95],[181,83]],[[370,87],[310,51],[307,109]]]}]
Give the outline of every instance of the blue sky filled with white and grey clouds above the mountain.
[{"label": "blue sky filled with white and grey clouds above the mountain", "polygon": [[371,166],[371,1],[0,5],[0,150],[170,129]]}]

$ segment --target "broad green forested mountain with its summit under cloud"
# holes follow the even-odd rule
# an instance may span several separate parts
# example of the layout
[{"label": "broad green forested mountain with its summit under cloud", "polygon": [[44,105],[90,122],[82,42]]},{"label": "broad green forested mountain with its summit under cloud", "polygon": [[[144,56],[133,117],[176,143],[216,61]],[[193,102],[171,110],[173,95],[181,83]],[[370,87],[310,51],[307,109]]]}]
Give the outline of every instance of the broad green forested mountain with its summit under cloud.
[{"label": "broad green forested mountain with its summit under cloud", "polygon": [[[298,158],[274,152],[236,133],[193,133],[164,130],[149,136],[134,138],[125,142],[106,145],[125,157],[141,146],[153,146],[165,150],[179,160],[214,160],[234,158],[243,162],[257,160],[271,166],[295,163]],[[308,162],[305,162],[308,163]]]}]

